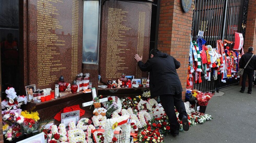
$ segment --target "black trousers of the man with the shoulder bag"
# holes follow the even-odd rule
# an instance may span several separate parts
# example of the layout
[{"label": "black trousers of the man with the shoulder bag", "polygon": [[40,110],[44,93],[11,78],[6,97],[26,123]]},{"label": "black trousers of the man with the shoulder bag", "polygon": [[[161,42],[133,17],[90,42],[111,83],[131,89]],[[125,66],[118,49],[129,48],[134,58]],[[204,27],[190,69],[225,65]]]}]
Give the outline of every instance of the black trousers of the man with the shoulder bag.
[{"label": "black trousers of the man with the shoulder bag", "polygon": [[242,77],[242,91],[245,91],[246,78],[248,77],[248,92],[252,92],[252,83],[253,83],[253,74],[254,70],[244,70]]}]

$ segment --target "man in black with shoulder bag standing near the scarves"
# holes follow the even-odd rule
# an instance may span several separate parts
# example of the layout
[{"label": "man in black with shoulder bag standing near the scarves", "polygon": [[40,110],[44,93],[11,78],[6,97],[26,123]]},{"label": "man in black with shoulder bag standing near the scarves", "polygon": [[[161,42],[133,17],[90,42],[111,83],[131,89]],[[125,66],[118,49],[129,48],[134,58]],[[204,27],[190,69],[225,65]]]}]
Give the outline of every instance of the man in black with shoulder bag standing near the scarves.
[{"label": "man in black with shoulder bag standing near the scarves", "polygon": [[[245,67],[245,65],[247,64],[249,59],[252,57],[252,55],[253,55],[253,47],[249,47],[248,52],[245,53],[239,61],[240,69],[241,68],[243,69]],[[246,78],[248,76],[248,93],[252,94],[254,70],[256,70],[256,56],[255,55],[252,57],[251,61],[248,63],[248,65],[246,66],[246,68],[243,71],[242,88],[240,90],[241,93],[245,92],[245,83],[246,83]]]}]

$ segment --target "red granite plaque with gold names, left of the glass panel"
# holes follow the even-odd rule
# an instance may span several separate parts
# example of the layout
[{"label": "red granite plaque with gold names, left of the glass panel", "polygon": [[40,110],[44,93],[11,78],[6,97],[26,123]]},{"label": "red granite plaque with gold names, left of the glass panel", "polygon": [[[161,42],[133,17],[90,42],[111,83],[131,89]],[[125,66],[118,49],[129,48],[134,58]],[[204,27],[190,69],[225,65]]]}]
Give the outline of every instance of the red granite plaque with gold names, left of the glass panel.
[{"label": "red granite plaque with gold names, left of the glass panel", "polygon": [[37,88],[53,88],[61,75],[71,82],[82,71],[83,1],[28,3],[28,78]]}]

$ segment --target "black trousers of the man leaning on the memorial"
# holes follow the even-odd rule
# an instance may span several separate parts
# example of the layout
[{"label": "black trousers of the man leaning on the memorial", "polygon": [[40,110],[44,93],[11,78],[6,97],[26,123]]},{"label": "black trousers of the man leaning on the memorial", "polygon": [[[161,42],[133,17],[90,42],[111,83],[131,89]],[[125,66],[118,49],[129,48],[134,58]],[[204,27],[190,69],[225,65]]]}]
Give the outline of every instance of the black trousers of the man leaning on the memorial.
[{"label": "black trousers of the man leaning on the memorial", "polygon": [[184,105],[184,102],[182,101],[182,93],[179,94],[167,94],[167,95],[160,95],[160,100],[162,103],[162,106],[165,110],[165,113],[167,114],[169,120],[170,120],[170,127],[171,130],[176,131],[179,130],[179,123],[177,121],[175,108],[179,112],[179,119],[182,119],[182,116],[185,115],[187,117],[186,108]]}]

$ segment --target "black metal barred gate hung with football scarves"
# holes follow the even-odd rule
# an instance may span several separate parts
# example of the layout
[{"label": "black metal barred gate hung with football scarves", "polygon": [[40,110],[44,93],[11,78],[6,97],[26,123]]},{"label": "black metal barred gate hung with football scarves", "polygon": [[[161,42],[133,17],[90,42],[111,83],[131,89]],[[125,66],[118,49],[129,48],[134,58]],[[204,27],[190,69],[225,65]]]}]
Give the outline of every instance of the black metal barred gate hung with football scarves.
[{"label": "black metal barred gate hung with football scarves", "polygon": [[[195,0],[192,40],[196,40],[199,30],[204,31],[203,39],[213,48],[216,47],[217,40],[234,42],[234,32],[242,33],[245,38],[247,8],[248,0]],[[232,50],[234,44],[228,46]],[[194,82],[194,89],[202,92],[218,91],[222,87],[238,83],[239,78],[228,79],[226,83],[222,83],[220,76],[217,80],[211,76],[211,81],[203,79],[202,76],[202,83]]]}]

